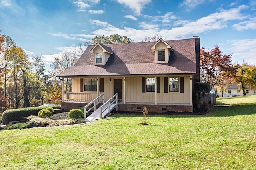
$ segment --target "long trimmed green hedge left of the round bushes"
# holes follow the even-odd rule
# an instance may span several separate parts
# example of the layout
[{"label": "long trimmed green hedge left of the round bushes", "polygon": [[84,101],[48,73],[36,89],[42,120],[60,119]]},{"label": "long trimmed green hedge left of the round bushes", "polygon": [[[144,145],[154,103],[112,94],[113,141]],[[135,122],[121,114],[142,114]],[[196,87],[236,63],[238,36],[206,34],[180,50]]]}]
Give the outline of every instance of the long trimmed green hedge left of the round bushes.
[{"label": "long trimmed green hedge left of the round bushes", "polygon": [[[60,105],[50,105],[47,107],[52,107],[52,109],[60,109]],[[10,121],[20,121],[24,117],[28,117],[30,115],[38,115],[38,112],[42,109],[46,109],[46,106],[43,107],[26,107],[20,109],[8,109],[4,111],[2,117],[3,125],[8,124]]]}]

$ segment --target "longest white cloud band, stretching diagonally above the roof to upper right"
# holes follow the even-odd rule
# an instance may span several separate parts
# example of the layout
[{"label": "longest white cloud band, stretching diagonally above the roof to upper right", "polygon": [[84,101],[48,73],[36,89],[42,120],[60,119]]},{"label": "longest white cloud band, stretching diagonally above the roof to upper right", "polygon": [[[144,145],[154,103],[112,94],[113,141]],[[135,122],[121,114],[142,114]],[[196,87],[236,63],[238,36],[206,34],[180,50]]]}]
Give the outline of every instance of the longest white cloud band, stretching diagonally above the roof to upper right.
[{"label": "longest white cloud band, stretching diagonally above the roof to upper right", "polygon": [[[104,35],[110,36],[111,34],[126,35],[135,42],[140,42],[145,36],[150,36],[154,33],[160,34],[168,40],[176,38],[186,38],[190,35],[200,34],[208,32],[211,30],[220,30],[228,26],[232,20],[242,20],[248,16],[244,16],[240,13],[241,10],[248,8],[248,6],[239,6],[238,8],[232,8],[229,10],[220,10],[210,14],[209,16],[202,17],[196,21],[183,21],[177,22],[176,25],[181,25],[180,27],[174,27],[171,29],[160,29],[155,25],[147,24],[146,22],[140,23],[141,30],[134,28],[117,28],[108,24],[107,22],[102,22],[99,20],[89,20],[92,24],[102,26],[102,28],[92,32],[94,35]],[[191,36],[192,37],[192,36]]]}]

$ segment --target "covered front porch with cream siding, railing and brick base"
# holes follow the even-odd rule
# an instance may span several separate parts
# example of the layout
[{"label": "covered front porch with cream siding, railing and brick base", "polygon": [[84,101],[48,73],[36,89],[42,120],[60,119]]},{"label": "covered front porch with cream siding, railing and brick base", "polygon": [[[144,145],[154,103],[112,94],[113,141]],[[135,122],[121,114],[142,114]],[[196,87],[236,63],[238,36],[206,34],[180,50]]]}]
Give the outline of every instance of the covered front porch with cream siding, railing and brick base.
[{"label": "covered front porch with cream siding, railing and brick base", "polygon": [[[105,101],[118,93],[119,111],[141,112],[141,108],[146,105],[150,112],[155,113],[192,112],[192,75],[186,75],[186,77],[175,75],[179,77],[180,86],[181,78],[184,82],[183,89],[181,90],[180,87],[179,92],[173,93],[166,93],[165,91],[164,83],[166,83],[165,78],[167,76],[171,77],[170,75],[69,77],[72,78],[72,92],[64,92],[64,81],[62,81],[62,107],[66,110],[84,107],[103,93]],[[150,77],[150,79],[155,80],[155,90],[147,92],[148,86],[145,85],[145,82],[143,84],[143,77]],[[144,91],[143,86],[146,89]],[[86,91],[87,89],[94,91]]]}]

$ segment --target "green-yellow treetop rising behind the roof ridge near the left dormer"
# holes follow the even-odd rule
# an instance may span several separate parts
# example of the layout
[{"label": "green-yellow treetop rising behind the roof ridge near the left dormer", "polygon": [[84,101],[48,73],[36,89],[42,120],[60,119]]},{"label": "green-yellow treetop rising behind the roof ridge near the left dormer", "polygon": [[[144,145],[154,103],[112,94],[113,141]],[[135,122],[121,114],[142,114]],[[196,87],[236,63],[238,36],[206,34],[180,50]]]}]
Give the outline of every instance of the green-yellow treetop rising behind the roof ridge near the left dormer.
[{"label": "green-yellow treetop rising behind the roof ridge near the left dormer", "polygon": [[92,44],[102,43],[102,44],[112,44],[112,43],[131,43],[134,42],[127,36],[120,36],[118,34],[112,34],[110,36],[95,36],[92,38]]}]

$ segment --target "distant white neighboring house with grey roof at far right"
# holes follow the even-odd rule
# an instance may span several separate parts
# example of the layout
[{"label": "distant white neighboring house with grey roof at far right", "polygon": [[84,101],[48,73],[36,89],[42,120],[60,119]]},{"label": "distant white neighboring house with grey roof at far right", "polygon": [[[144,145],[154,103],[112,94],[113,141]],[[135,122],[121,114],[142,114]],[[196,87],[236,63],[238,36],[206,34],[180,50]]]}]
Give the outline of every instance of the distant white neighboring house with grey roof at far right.
[{"label": "distant white neighboring house with grey roof at far right", "polygon": [[[256,88],[246,86],[245,89],[246,95],[256,95]],[[242,96],[243,90],[236,84],[228,84],[227,89],[222,92],[218,92],[219,97],[233,97],[233,96]]]}]

